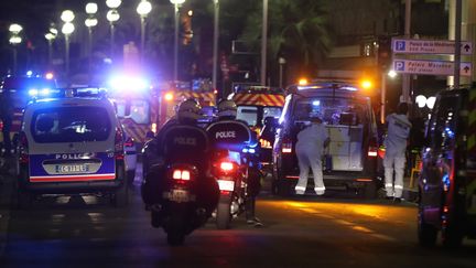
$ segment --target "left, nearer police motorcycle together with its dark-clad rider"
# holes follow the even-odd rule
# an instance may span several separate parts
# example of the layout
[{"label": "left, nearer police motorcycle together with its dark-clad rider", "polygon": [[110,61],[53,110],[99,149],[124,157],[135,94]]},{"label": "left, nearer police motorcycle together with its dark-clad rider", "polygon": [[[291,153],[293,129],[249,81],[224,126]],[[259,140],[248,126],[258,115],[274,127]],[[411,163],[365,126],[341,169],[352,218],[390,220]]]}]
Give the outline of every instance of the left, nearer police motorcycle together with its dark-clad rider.
[{"label": "left, nearer police motorcycle together with its dark-clad rider", "polygon": [[199,109],[195,101],[182,103],[177,118],[143,150],[142,199],[152,226],[164,229],[171,246],[182,245],[185,236],[203,226],[218,202],[217,182],[208,175],[208,138],[194,125]]}]

